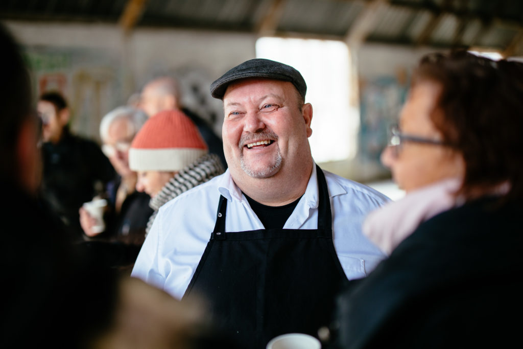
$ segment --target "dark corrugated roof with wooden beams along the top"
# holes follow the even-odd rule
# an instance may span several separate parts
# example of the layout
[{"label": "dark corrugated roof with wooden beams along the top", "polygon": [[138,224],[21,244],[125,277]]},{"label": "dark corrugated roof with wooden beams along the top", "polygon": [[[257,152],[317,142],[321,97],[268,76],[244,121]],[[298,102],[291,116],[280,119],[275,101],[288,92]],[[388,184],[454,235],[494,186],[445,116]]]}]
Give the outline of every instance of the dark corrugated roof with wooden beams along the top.
[{"label": "dark corrugated roof with wooden beams along the top", "polygon": [[[363,15],[372,19],[370,26],[355,25]],[[110,22],[131,30],[154,26],[340,40],[357,31],[362,43],[501,51],[517,47],[516,40],[523,37],[523,1],[514,0],[4,0],[0,19]]]}]

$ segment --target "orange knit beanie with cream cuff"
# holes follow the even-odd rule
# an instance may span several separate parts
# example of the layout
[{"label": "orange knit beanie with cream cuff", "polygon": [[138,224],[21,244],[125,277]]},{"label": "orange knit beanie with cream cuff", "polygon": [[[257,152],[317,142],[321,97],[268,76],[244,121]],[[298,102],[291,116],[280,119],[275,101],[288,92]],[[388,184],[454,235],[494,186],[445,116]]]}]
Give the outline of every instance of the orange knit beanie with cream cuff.
[{"label": "orange knit beanie with cream cuff", "polygon": [[179,110],[158,112],[145,122],[129,150],[133,171],[180,171],[208,153],[196,125]]}]

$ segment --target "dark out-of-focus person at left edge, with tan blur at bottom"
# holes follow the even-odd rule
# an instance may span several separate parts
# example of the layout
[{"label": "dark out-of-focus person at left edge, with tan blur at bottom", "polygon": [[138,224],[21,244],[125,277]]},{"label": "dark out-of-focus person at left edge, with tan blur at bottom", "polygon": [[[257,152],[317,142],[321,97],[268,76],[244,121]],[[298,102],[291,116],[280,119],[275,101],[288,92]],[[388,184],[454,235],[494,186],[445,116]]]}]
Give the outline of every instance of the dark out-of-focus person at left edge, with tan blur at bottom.
[{"label": "dark out-of-focus person at left edge, with tan blur at bottom", "polygon": [[234,348],[201,307],[140,280],[120,278],[77,249],[64,224],[37,199],[40,122],[30,78],[0,23],[0,183],[4,266],[2,348]]}]

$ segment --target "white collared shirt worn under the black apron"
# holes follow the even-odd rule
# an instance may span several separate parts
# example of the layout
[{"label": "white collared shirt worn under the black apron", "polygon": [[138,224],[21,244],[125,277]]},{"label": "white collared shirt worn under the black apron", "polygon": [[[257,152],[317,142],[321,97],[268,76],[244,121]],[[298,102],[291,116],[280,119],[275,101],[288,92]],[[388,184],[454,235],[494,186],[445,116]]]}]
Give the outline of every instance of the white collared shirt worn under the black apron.
[{"label": "white collared shirt worn under the black apron", "polygon": [[[385,255],[361,231],[370,211],[389,199],[365,185],[325,173],[333,214],[334,247],[347,278],[365,277]],[[229,170],[167,202],[158,211],[131,276],[181,299],[214,230],[220,195],[228,200],[225,231],[264,229]],[[283,229],[316,229],[316,166],[305,194]]]}]

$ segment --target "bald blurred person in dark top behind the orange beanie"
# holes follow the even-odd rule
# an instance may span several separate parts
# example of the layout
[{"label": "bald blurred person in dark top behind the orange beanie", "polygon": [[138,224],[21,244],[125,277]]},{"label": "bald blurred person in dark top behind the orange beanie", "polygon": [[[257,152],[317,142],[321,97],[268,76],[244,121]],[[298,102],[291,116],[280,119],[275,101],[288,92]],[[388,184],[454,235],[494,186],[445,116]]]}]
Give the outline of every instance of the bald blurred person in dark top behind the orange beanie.
[{"label": "bald blurred person in dark top behind the orange beanie", "polygon": [[198,131],[209,148],[209,153],[218,155],[222,166],[227,167],[222,140],[214,133],[206,120],[181,105],[179,86],[174,78],[161,76],[146,83],[140,95],[139,106],[149,117],[162,110],[181,110],[198,127]]}]

